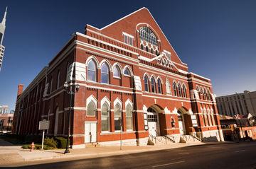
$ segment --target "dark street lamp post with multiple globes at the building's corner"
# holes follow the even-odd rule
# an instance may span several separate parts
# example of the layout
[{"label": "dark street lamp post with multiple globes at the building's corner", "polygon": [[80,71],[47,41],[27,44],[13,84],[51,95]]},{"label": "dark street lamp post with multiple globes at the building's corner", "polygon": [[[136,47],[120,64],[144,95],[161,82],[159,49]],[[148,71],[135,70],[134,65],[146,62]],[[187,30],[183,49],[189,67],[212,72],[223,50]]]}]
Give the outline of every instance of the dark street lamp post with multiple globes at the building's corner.
[{"label": "dark street lamp post with multiple globes at the building's corner", "polygon": [[72,95],[75,95],[75,92],[78,92],[80,86],[78,84],[75,85],[75,91],[73,91],[73,85],[70,83],[70,91],[68,91],[68,82],[64,83],[64,91],[70,95],[70,108],[68,112],[68,136],[67,136],[67,144],[64,153],[70,153],[69,150],[69,139],[70,139],[70,114],[71,114],[71,106],[72,106]]}]

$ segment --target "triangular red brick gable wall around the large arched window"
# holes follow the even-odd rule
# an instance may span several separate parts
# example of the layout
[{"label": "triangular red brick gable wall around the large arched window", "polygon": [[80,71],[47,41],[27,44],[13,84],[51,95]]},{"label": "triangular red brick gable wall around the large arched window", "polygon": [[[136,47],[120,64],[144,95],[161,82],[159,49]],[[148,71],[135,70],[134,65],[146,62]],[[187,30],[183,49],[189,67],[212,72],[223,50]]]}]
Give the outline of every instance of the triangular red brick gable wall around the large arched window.
[{"label": "triangular red brick gable wall around the large arched window", "polygon": [[154,17],[145,7],[140,8],[139,10],[124,16],[123,18],[120,18],[119,20],[114,21],[113,23],[110,23],[101,29],[96,29],[97,32],[112,37],[121,42],[124,42],[124,33],[129,34],[134,37],[134,47],[140,48],[138,29],[142,26],[147,26],[154,31],[157,39],[160,40],[160,52],[163,52],[163,50],[171,52],[171,61],[176,64],[178,69],[182,69],[184,71],[188,70],[187,65],[181,62],[181,59],[178,57],[178,54],[176,54],[169,40],[166,38],[161,28],[154,20]]}]

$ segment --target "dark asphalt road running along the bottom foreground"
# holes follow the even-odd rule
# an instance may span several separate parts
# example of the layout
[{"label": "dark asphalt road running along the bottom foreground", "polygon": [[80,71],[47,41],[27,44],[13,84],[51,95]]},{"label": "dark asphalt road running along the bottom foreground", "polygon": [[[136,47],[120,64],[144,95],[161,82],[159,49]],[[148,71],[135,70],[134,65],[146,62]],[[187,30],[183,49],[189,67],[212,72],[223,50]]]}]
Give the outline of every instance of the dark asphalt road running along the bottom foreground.
[{"label": "dark asphalt road running along the bottom foreground", "polygon": [[256,142],[166,149],[19,168],[256,168]]}]

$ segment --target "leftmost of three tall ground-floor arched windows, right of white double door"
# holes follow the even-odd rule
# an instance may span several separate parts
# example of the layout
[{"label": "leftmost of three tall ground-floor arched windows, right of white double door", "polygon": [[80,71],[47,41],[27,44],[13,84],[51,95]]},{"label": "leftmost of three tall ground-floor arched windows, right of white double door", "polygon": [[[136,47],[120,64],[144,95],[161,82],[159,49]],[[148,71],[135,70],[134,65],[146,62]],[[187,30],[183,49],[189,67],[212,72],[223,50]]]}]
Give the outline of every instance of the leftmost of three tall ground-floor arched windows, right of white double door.
[{"label": "leftmost of three tall ground-floor arched windows, right of white double door", "polygon": [[110,130],[110,107],[107,103],[102,105],[101,112],[101,131],[106,132]]}]

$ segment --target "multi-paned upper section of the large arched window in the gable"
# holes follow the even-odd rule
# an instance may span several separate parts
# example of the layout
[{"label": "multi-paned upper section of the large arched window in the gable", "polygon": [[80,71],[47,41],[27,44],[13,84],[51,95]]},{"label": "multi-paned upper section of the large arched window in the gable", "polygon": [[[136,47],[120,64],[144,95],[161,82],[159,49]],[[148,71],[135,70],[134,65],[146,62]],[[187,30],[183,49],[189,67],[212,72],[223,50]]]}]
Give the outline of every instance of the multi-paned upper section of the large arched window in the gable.
[{"label": "multi-paned upper section of the large arched window in the gable", "polygon": [[156,35],[154,34],[154,32],[148,28],[148,27],[142,27],[139,28],[139,38],[141,40],[144,40],[146,42],[151,43],[152,45],[156,45],[157,46],[157,39],[156,39]]}]

